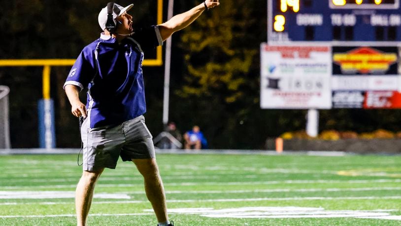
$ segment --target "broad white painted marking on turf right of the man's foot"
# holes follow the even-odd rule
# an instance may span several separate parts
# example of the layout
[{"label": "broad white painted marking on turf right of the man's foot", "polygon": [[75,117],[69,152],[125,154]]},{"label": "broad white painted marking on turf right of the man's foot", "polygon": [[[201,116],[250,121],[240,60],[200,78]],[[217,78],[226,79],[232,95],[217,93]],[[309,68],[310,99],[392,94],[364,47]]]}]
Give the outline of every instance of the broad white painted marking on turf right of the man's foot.
[{"label": "broad white painted marking on turf right of the man's foot", "polygon": [[[145,210],[152,211],[153,210]],[[396,210],[325,210],[308,207],[242,207],[230,209],[180,208],[168,209],[170,213],[196,214],[209,218],[369,218],[401,221],[401,216],[392,216]]]}]

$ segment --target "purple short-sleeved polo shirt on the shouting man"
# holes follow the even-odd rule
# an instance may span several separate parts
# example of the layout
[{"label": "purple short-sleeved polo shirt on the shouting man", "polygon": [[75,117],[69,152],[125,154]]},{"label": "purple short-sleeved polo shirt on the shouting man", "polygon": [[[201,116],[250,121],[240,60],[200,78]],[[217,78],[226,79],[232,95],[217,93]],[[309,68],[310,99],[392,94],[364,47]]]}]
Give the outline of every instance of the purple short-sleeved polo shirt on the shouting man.
[{"label": "purple short-sleeved polo shirt on the shouting man", "polygon": [[120,124],[146,112],[141,47],[163,45],[158,26],[140,29],[118,43],[105,36],[85,46],[67,76],[68,84],[88,88],[91,128]]}]

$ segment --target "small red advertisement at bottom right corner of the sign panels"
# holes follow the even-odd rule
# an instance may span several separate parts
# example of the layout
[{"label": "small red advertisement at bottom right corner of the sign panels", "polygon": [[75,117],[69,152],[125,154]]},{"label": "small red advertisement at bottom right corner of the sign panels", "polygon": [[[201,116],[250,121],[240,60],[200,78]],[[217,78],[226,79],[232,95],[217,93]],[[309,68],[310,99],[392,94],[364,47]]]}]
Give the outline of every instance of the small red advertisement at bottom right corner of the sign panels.
[{"label": "small red advertisement at bottom right corner of the sign panels", "polygon": [[401,109],[401,93],[397,91],[367,91],[364,109]]}]

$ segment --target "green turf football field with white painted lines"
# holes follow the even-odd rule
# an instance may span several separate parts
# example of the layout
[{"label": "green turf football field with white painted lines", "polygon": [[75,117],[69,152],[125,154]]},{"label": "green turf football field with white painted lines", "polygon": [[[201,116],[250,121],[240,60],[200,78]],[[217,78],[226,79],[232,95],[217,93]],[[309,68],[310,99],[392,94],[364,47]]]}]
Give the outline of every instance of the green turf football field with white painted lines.
[{"label": "green turf football field with white painted lines", "polygon": [[[401,225],[401,156],[159,154],[176,226]],[[76,155],[0,156],[0,225],[75,225]],[[89,225],[156,226],[134,164],[106,169]]]}]

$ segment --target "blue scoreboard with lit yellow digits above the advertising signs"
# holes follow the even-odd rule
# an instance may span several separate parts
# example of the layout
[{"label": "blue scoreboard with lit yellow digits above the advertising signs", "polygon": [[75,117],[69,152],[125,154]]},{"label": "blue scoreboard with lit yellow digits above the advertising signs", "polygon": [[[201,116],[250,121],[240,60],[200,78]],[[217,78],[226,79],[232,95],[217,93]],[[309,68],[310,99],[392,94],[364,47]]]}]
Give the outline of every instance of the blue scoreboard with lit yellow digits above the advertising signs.
[{"label": "blue scoreboard with lit yellow digits above the advertising signs", "polygon": [[269,45],[398,45],[400,0],[267,0]]}]

